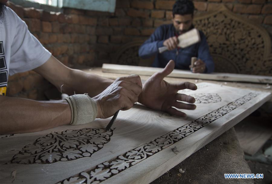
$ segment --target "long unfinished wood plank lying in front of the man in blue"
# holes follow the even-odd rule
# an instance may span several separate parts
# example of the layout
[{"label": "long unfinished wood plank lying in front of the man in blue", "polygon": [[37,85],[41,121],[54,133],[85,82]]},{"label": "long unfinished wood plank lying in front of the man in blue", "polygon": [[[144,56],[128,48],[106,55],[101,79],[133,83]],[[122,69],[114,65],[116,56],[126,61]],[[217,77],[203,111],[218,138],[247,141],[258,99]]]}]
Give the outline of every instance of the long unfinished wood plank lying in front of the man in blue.
[{"label": "long unfinished wood plank lying in front of the man in blue", "polygon": [[[116,64],[103,64],[103,72],[112,73],[126,73],[137,75],[153,75],[161,71],[162,68],[144,67],[144,66],[129,66],[129,65],[116,65]],[[271,76],[257,76],[233,73],[192,73],[187,70],[174,69],[168,77],[179,77],[189,79],[206,79],[217,81],[237,81],[237,82],[255,82],[255,83],[268,83],[272,84]]]}]

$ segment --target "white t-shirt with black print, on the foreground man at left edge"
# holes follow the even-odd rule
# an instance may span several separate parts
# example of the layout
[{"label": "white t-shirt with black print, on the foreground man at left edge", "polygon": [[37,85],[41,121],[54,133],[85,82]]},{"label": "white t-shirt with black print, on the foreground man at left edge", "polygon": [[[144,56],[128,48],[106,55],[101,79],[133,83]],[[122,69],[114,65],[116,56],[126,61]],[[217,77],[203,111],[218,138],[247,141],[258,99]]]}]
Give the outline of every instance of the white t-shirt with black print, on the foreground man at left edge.
[{"label": "white t-shirt with black print, on the foreground man at left edge", "polygon": [[5,95],[8,75],[37,68],[50,56],[25,22],[7,7],[0,22],[0,95]]}]

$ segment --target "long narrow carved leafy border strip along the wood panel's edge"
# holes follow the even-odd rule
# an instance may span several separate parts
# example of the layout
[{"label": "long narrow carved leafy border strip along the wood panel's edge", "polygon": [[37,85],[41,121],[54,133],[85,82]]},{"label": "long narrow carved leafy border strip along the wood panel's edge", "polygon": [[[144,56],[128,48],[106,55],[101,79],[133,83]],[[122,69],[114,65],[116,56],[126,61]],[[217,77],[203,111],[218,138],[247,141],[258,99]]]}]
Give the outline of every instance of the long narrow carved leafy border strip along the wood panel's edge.
[{"label": "long narrow carved leafy border strip along the wood panel's edge", "polygon": [[255,98],[258,93],[248,93],[237,100],[228,103],[202,117],[183,125],[161,137],[158,137],[151,142],[141,145],[133,150],[126,152],[123,155],[119,155],[113,160],[101,163],[95,166],[93,169],[88,169],[81,172],[75,176],[69,177],[58,184],[71,184],[71,183],[99,183],[102,182],[125,169],[145,160],[146,158],[158,153],[159,151],[169,147],[170,145],[176,143],[177,141],[187,137],[188,135],[196,132],[197,130],[203,128],[204,126],[212,123],[213,121],[221,118],[230,111],[238,108],[244,103]]}]

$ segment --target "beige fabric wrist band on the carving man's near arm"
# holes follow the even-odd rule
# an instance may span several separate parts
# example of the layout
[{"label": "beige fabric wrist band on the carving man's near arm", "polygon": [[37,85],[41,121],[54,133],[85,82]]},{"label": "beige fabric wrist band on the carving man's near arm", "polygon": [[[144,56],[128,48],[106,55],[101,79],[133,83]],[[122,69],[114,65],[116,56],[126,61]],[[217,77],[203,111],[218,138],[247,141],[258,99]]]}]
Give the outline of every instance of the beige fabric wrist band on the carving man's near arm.
[{"label": "beige fabric wrist band on the carving man's near arm", "polygon": [[71,108],[72,125],[90,123],[96,119],[96,102],[88,94],[72,95],[65,98]]}]

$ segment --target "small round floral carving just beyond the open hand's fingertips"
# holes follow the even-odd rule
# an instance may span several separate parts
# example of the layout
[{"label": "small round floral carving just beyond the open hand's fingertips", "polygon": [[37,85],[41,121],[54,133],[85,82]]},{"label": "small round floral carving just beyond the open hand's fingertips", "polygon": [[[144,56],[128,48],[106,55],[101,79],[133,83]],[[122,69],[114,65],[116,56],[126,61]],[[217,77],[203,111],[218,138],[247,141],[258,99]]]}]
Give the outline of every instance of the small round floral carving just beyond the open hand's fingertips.
[{"label": "small round floral carving just beyond the open hand's fingertips", "polygon": [[195,103],[209,104],[221,102],[221,97],[216,93],[197,93],[190,95],[196,99]]}]

